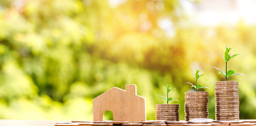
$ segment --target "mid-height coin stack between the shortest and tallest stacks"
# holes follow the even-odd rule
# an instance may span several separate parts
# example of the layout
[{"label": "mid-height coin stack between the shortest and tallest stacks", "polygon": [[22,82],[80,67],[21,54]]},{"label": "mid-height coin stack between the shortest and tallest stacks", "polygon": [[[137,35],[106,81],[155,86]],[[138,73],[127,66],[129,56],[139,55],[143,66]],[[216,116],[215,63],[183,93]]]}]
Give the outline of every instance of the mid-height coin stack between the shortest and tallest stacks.
[{"label": "mid-height coin stack between the shortest and tallest stacks", "polygon": [[208,92],[185,92],[185,120],[208,118]]}]

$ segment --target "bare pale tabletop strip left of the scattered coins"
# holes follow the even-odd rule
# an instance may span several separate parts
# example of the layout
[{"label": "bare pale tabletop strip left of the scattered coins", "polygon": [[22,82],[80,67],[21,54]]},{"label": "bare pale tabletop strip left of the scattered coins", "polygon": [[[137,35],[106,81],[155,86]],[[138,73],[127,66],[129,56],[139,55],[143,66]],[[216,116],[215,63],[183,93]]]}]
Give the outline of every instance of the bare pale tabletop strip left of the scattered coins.
[{"label": "bare pale tabletop strip left of the scattered coins", "polygon": [[0,120],[0,126],[54,126],[55,123],[71,123],[67,120]]}]

